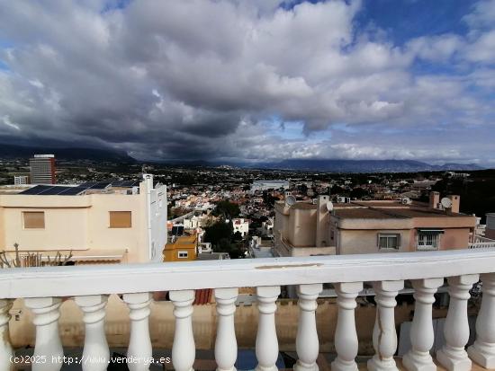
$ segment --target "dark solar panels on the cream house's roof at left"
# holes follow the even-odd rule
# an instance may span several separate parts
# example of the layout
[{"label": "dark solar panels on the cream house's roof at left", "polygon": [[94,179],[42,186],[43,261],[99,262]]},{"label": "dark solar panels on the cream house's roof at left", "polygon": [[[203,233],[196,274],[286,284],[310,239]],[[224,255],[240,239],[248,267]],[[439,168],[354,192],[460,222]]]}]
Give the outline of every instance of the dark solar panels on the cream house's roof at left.
[{"label": "dark solar panels on the cream house's roof at left", "polygon": [[109,187],[131,188],[137,186],[139,186],[139,181],[86,181],[76,187],[37,185],[29,190],[24,190],[20,194],[74,196],[84,192],[85,190],[105,190]]}]

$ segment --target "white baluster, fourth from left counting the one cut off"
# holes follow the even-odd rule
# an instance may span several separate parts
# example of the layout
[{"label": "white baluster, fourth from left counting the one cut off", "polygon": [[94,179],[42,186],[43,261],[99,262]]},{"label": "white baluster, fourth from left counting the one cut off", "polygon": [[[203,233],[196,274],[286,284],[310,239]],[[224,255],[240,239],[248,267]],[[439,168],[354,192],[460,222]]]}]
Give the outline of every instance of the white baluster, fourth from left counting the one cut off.
[{"label": "white baluster, fourth from left counting the one cut off", "polygon": [[131,358],[133,361],[128,362],[127,366],[130,371],[148,371],[149,359],[153,355],[148,322],[151,313],[149,309],[151,294],[124,294],[123,300],[130,309],[130,340],[127,358]]}]

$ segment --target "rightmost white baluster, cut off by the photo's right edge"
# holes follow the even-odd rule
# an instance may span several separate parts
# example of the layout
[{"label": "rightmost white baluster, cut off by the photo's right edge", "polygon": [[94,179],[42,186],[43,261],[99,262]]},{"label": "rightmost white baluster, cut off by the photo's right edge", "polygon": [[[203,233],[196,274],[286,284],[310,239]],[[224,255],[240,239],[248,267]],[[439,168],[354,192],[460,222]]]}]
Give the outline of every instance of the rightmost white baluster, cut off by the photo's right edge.
[{"label": "rightmost white baluster, cut off by the photo's right edge", "polygon": [[482,274],[482,308],[476,321],[476,340],[469,357],[485,368],[495,368],[495,273]]}]

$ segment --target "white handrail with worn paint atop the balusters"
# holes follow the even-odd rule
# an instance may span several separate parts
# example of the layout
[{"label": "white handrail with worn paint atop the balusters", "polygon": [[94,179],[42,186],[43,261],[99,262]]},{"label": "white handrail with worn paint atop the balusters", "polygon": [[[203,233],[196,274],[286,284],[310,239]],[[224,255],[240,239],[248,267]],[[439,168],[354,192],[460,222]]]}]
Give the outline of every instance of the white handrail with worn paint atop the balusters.
[{"label": "white handrail with worn paint atop the balusters", "polygon": [[0,269],[0,298],[444,278],[491,273],[495,249]]}]

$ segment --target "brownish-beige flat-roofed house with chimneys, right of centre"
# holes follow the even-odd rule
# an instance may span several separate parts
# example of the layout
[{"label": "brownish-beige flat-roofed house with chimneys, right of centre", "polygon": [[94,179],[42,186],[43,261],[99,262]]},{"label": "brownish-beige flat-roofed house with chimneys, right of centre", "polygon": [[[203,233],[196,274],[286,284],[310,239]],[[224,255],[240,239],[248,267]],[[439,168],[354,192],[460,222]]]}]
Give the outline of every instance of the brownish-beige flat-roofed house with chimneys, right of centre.
[{"label": "brownish-beige flat-roofed house with chimneys, right of centre", "polygon": [[416,252],[467,249],[475,216],[459,213],[459,196],[440,209],[437,192],[430,203],[404,200],[337,203],[329,196],[315,202],[275,204],[275,253],[278,256]]}]

